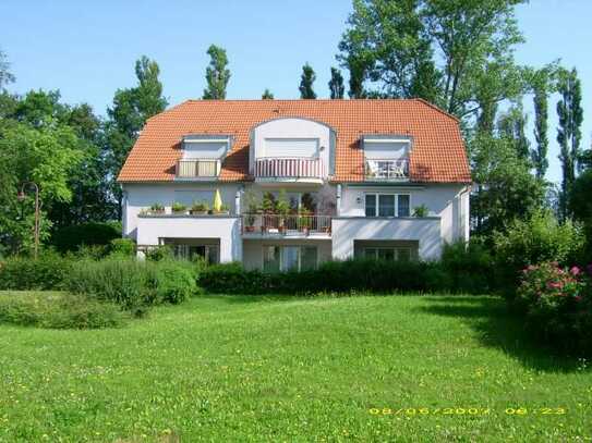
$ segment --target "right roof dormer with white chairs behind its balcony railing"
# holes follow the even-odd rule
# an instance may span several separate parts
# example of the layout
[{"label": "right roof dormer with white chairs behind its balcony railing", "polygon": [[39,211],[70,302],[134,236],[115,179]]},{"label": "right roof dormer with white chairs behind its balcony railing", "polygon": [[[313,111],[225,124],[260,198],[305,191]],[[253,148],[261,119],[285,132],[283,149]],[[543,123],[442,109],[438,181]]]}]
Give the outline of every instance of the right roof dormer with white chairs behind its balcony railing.
[{"label": "right roof dormer with white chairs behind its balcony railing", "polygon": [[362,147],[367,180],[406,180],[409,177],[411,138],[369,135],[362,137]]}]

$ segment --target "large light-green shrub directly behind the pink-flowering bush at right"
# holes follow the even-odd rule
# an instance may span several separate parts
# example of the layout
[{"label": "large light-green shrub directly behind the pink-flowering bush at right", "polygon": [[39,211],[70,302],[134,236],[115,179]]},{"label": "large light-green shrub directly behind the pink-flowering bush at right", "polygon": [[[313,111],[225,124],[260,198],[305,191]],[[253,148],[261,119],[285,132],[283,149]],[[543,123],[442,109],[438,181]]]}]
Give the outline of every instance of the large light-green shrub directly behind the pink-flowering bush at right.
[{"label": "large light-green shrub directly behind the pink-flowering bush at right", "polygon": [[511,298],[520,271],[529,264],[577,262],[585,245],[582,229],[569,220],[559,224],[549,211],[514,221],[506,232],[494,234],[496,276]]}]

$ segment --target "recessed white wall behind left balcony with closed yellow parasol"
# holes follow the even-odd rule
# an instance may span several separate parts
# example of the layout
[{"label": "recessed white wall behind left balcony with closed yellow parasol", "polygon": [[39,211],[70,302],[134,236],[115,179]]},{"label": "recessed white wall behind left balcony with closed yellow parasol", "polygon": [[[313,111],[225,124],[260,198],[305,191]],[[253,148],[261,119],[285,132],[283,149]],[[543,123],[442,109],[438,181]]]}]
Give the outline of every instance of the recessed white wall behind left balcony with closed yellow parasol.
[{"label": "recessed white wall behind left balcony with closed yellow parasol", "polygon": [[[170,213],[171,205],[176,198],[176,190],[200,192],[220,189],[222,202],[228,205],[232,212],[234,208],[234,197],[240,184],[231,183],[166,183],[166,184],[125,184],[123,193],[125,196],[123,207],[123,235],[137,241],[137,214],[142,209],[148,209],[153,204],[160,204],[165,211]],[[209,202],[212,206],[212,201]],[[137,242],[141,244],[140,242]]]}]

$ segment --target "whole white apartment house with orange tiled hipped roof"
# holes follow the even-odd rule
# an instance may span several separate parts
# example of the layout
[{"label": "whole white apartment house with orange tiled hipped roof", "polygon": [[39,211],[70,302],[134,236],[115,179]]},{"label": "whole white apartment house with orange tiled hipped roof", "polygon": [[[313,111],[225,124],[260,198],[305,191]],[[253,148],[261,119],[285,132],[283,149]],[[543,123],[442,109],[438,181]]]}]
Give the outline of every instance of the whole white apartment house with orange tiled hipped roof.
[{"label": "whole white apartment house with orange tiled hipped roof", "polygon": [[412,99],[190,100],[147,121],[118,180],[140,254],[275,271],[437,259],[469,237],[470,179],[459,122]]}]

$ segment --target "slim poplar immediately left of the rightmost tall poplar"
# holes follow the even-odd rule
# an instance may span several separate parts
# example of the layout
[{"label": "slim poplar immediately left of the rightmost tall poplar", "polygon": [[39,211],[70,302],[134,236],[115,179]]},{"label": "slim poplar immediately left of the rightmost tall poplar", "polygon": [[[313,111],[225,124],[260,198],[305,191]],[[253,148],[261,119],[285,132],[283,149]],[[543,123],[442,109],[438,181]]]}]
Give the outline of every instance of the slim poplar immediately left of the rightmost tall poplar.
[{"label": "slim poplar immediately left of the rightmost tall poplar", "polygon": [[533,82],[534,93],[534,139],[536,148],[531,157],[539,179],[544,179],[548,169],[548,71],[543,69],[535,73]]}]

